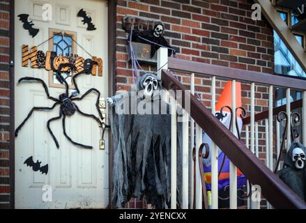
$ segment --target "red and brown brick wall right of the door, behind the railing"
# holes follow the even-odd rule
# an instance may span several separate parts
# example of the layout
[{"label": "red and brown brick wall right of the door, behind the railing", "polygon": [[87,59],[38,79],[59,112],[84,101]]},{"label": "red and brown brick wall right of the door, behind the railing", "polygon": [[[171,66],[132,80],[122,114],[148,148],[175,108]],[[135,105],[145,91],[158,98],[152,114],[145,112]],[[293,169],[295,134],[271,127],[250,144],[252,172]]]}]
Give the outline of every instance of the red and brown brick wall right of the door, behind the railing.
[{"label": "red and brown brick wall right of the door, behind the railing", "polygon": [[[262,17],[251,19],[252,0],[118,0],[116,38],[116,89],[130,89],[132,70],[128,63],[125,15],[147,17],[165,24],[165,38],[180,59],[219,66],[273,73],[273,29]],[[151,66],[144,70],[154,71]],[[190,75],[176,74],[190,88]],[[226,82],[217,81],[216,96]],[[206,107],[211,107],[211,80],[195,77],[195,89]],[[242,85],[243,107],[250,115],[250,84]],[[256,86],[255,112],[268,109],[268,89]],[[243,128],[242,137],[245,137]],[[266,157],[265,123],[259,122],[259,158]],[[133,200],[132,203],[135,201]]]}]

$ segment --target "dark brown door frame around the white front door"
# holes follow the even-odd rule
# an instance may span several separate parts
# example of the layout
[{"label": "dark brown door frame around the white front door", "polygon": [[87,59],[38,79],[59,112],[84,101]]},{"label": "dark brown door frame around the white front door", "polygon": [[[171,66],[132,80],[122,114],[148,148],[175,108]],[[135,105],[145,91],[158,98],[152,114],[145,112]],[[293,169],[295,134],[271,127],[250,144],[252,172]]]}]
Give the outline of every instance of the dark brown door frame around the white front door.
[{"label": "dark brown door frame around the white front door", "polygon": [[[108,94],[114,95],[116,66],[116,0],[107,0]],[[15,0],[10,1],[10,64],[15,61]],[[15,68],[10,65],[10,208],[15,208]],[[109,134],[109,204],[112,208],[112,134]]]}]

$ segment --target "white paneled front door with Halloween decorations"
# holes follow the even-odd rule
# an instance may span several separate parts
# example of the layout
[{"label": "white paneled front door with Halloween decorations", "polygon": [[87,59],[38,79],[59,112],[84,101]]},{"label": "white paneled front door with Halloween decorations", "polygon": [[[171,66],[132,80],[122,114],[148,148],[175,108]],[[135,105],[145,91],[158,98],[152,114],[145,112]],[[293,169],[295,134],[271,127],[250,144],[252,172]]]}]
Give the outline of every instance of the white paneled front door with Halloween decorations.
[{"label": "white paneled front door with Halloween decorations", "polygon": [[[44,4],[52,6],[52,20],[42,17]],[[89,13],[95,30],[88,31],[87,24],[77,17],[84,8]],[[17,15],[29,14],[38,34],[32,38],[23,28]],[[46,15],[47,16],[47,15]],[[47,84],[50,96],[59,98],[65,89],[52,86],[49,71],[45,68],[22,67],[22,45],[38,46],[50,37],[51,31],[75,33],[74,51],[84,59],[97,56],[102,59],[102,77],[82,75],[77,77],[80,94],[91,88],[100,91],[100,99],[107,97],[107,1],[102,0],[15,0],[15,129],[26,118],[33,107],[52,107],[38,82],[17,84],[22,77],[36,77]],[[47,52],[49,42],[38,46]],[[69,41],[68,41],[69,42]],[[65,48],[65,44],[59,46]],[[68,43],[69,44],[69,43]],[[84,49],[89,54],[87,54]],[[65,55],[64,55],[65,56]],[[98,116],[95,109],[97,94],[90,93],[83,100],[75,102],[82,112]],[[98,123],[77,112],[66,117],[66,132],[79,144],[93,146],[92,149],[73,145],[63,134],[62,120],[50,123],[50,128],[59,141],[59,148],[47,130],[47,121],[59,116],[59,105],[52,111],[35,111],[26,121],[15,139],[15,207],[16,208],[105,208],[109,201],[108,144],[100,150],[101,129]],[[107,139],[107,131],[105,132]],[[24,164],[28,157],[39,160],[40,166],[48,164],[47,174],[34,171]],[[52,199],[52,201],[51,201]]]}]

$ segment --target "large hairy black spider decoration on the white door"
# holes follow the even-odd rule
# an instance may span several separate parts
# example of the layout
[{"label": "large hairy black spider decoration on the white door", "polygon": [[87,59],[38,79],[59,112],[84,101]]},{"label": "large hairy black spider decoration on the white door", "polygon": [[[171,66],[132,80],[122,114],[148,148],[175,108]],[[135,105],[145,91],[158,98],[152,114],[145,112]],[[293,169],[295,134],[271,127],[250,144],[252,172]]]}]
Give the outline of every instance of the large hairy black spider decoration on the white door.
[{"label": "large hairy black spider decoration on the white door", "polygon": [[[84,70],[82,72],[78,72],[76,75],[74,75],[72,77],[72,83],[75,85],[75,89],[76,89],[78,94],[79,94],[79,88],[77,87],[77,82],[76,82],[77,77],[79,75],[82,75],[82,74],[88,74],[91,71],[92,66],[94,64],[96,64],[95,61],[87,61],[87,63],[88,64],[86,64],[86,66],[84,66]],[[18,132],[20,131],[20,129],[24,125],[24,123],[26,123],[26,121],[30,118],[30,116],[33,114],[34,111],[51,111],[52,109],[54,109],[56,107],[56,105],[60,105],[59,116],[56,116],[54,118],[50,118],[47,121],[47,129],[49,130],[49,133],[51,134],[52,138],[54,139],[54,142],[55,142],[57,148],[59,148],[59,142],[57,141],[56,137],[54,136],[54,134],[53,134],[53,132],[50,128],[50,123],[52,121],[56,121],[60,118],[62,118],[62,123],[63,123],[63,134],[72,144],[75,144],[76,146],[80,146],[82,148],[93,148],[92,146],[86,146],[86,145],[79,144],[79,143],[73,141],[68,136],[68,134],[66,133],[66,125],[65,125],[66,116],[72,116],[73,114],[75,114],[75,112],[78,112],[79,114],[82,114],[83,116],[93,118],[99,124],[100,128],[102,128],[102,134],[104,134],[105,128],[109,128],[109,125],[106,125],[104,122],[102,122],[103,121],[102,112],[99,109],[100,91],[98,91],[97,89],[94,89],[94,88],[89,89],[88,91],[86,91],[86,93],[84,93],[84,95],[82,95],[79,98],[75,98],[77,95],[75,95],[73,93],[71,93],[71,95],[69,95],[69,85],[66,82],[66,79],[61,75],[62,68],[67,67],[67,66],[70,67],[71,70],[75,70],[75,66],[72,63],[62,63],[59,66],[59,69],[57,70],[57,72],[55,72],[56,79],[59,79],[59,82],[61,82],[61,84],[65,84],[65,86],[66,86],[66,93],[62,93],[61,95],[59,95],[59,99],[53,98],[52,96],[49,95],[47,84],[45,84],[43,79],[39,79],[39,78],[35,78],[35,77],[22,77],[21,79],[19,79],[18,84],[21,83],[21,82],[40,82],[41,84],[43,84],[43,87],[45,89],[45,93],[47,94],[47,98],[50,99],[50,100],[53,100],[55,103],[54,103],[54,105],[52,105],[52,107],[33,107],[31,109],[31,111],[29,112],[28,116],[26,116],[24,121],[22,121],[22,123],[15,130],[15,136],[16,137],[18,135]],[[100,119],[93,114],[86,114],[86,113],[82,112],[79,109],[79,107],[77,107],[75,102],[73,102],[74,100],[82,100],[84,97],[86,97],[86,95],[88,95],[91,92],[95,92],[95,93],[98,94],[97,101],[95,102],[95,107],[97,108],[98,114],[99,114],[102,121],[100,121]]]}]

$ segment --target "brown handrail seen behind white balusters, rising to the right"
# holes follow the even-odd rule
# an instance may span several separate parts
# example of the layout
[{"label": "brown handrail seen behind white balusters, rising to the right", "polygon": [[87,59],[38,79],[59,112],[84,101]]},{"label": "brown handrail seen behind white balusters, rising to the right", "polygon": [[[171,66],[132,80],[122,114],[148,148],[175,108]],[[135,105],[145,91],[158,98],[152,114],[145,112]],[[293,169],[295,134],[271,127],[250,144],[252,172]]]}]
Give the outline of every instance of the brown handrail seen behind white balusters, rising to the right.
[{"label": "brown handrail seen behind white balusters, rising to the right", "polygon": [[[290,103],[291,111],[294,110],[294,109],[299,109],[301,107],[303,107],[303,99],[296,100],[295,102]],[[274,107],[273,108],[273,115],[277,115],[280,112],[286,112],[286,105],[282,105],[280,107]],[[268,116],[269,116],[269,111],[266,110],[266,111],[263,111],[261,113],[255,114],[254,119],[255,119],[255,121],[260,121],[262,119],[268,118]],[[243,125],[250,124],[250,122],[251,122],[251,117],[250,116],[247,116],[247,117],[243,118]]]}]

